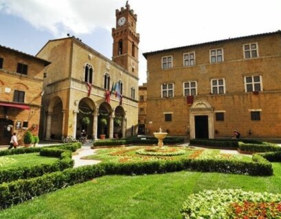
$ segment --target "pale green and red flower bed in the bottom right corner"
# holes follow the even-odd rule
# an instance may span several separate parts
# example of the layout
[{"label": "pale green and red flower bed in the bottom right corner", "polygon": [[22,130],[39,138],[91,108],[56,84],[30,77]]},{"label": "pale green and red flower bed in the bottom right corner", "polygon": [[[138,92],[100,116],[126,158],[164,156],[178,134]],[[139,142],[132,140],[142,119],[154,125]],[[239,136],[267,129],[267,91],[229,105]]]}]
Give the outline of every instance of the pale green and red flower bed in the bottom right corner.
[{"label": "pale green and red flower bed in the bottom right corner", "polygon": [[280,218],[281,194],[204,190],[188,196],[183,218]]}]

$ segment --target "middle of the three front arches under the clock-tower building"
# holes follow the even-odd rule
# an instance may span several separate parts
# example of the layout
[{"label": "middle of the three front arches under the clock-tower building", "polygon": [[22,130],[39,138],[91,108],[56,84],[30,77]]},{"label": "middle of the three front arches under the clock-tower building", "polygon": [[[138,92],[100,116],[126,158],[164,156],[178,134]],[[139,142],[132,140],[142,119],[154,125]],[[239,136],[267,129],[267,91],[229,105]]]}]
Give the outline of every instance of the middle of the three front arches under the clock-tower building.
[{"label": "middle of the three front arches under the clock-tower building", "polygon": [[111,122],[111,105],[109,103],[102,103],[98,110],[98,136],[105,135],[109,138],[109,128]]}]

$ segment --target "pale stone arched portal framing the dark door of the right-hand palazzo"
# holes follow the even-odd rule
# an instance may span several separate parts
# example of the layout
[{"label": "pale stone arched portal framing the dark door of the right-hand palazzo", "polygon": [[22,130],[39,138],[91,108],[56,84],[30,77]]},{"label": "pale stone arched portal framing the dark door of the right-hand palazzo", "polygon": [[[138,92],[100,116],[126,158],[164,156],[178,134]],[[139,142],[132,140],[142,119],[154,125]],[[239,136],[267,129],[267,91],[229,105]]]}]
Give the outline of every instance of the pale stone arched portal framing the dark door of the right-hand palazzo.
[{"label": "pale stone arched portal framing the dark door of the right-hand palazzo", "polygon": [[214,109],[207,101],[190,107],[190,138],[214,138]]}]

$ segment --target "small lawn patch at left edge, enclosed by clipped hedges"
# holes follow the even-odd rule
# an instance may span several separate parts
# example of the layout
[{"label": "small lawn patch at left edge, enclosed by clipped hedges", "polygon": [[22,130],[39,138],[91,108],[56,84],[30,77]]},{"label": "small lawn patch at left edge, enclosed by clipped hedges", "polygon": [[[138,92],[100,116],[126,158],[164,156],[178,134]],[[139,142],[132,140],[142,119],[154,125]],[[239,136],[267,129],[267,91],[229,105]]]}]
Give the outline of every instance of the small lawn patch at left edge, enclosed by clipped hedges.
[{"label": "small lawn patch at left edge, enclosed by clipped hedges", "polygon": [[15,168],[19,166],[33,166],[36,164],[52,164],[56,157],[43,157],[39,153],[25,153],[21,155],[7,155],[0,157],[0,170]]}]

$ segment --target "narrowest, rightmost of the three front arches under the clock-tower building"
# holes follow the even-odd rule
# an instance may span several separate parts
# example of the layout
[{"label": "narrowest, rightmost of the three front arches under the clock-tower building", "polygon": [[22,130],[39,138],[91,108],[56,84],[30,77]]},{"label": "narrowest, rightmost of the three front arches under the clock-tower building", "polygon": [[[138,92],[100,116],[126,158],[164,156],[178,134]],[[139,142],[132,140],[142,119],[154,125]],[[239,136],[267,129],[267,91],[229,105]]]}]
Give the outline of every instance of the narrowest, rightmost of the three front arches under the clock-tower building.
[{"label": "narrowest, rightmost of the three front arches under the clock-tower building", "polygon": [[120,105],[117,106],[114,114],[115,114],[114,123],[113,123],[114,138],[122,138],[124,135],[124,127],[126,127],[126,121],[124,120],[125,118],[124,108]]}]

